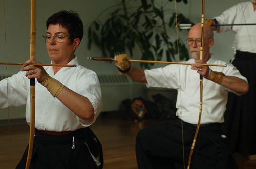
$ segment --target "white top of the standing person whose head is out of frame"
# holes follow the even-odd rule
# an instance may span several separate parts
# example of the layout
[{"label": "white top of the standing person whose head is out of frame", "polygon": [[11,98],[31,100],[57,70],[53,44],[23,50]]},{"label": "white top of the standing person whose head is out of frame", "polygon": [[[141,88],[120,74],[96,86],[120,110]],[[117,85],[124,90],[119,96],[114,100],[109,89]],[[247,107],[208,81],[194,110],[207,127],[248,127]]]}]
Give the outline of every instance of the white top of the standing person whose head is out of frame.
[{"label": "white top of the standing person whose head is out of frame", "polygon": [[[219,24],[256,23],[256,11],[251,2],[239,3],[220,16],[215,17]],[[220,32],[235,33],[233,48],[244,52],[256,53],[256,26],[220,26]]]}]

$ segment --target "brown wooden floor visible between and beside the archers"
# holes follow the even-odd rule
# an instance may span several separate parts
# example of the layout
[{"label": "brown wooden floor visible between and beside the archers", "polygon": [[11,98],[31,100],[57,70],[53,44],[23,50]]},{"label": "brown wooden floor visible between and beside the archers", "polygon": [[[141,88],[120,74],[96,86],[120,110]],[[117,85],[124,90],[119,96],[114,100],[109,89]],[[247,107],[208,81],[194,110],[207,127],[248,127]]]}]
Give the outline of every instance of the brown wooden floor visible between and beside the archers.
[{"label": "brown wooden floor visible between and beside the archers", "polygon": [[[160,120],[140,122],[121,119],[98,119],[91,127],[103,147],[104,167],[128,169],[137,168],[135,138],[139,130]],[[0,168],[15,168],[29,140],[27,125],[0,127]],[[239,169],[244,169],[246,159],[237,159]]]}]

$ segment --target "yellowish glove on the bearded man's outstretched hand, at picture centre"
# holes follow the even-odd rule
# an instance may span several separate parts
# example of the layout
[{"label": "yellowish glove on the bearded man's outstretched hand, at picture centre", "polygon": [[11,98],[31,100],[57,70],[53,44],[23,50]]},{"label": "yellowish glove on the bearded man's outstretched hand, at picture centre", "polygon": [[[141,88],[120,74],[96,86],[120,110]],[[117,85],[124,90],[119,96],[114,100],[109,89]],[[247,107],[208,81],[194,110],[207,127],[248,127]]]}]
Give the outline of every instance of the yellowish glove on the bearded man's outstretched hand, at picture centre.
[{"label": "yellowish glove on the bearded man's outstretched hand, at picture centre", "polygon": [[120,74],[125,74],[131,71],[131,63],[128,59],[126,54],[119,54],[116,66]]}]

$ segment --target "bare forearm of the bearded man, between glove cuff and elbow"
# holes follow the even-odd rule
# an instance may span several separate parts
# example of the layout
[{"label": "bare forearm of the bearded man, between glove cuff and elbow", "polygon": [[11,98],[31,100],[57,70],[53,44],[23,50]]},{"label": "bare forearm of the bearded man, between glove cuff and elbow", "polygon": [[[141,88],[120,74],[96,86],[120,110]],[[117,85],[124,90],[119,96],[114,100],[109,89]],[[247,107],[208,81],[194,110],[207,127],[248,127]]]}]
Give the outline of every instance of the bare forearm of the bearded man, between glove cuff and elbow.
[{"label": "bare forearm of the bearded man, between glove cuff and elbow", "polygon": [[234,76],[223,76],[221,85],[233,90],[238,95],[243,95],[249,91],[248,83]]}]

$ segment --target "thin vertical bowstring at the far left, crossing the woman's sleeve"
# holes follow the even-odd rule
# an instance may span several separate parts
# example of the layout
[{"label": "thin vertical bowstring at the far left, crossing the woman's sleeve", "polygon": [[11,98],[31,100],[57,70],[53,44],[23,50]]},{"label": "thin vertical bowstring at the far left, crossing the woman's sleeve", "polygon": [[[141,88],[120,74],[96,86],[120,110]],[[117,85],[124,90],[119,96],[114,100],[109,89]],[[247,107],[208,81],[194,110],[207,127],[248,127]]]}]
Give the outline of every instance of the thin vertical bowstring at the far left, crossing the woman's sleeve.
[{"label": "thin vertical bowstring at the far left, crossing the woman's sleeve", "polygon": [[[5,0],[4,6],[4,29],[5,29],[5,61],[7,62],[7,36],[6,36],[6,12],[5,12]],[[8,65],[6,65],[6,86],[7,86],[7,109],[8,109],[8,156],[9,156],[9,168],[11,166],[11,127],[10,127],[10,109],[9,109],[9,93],[8,93]]]}]

